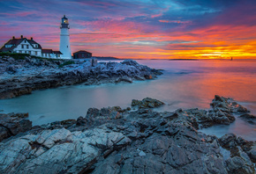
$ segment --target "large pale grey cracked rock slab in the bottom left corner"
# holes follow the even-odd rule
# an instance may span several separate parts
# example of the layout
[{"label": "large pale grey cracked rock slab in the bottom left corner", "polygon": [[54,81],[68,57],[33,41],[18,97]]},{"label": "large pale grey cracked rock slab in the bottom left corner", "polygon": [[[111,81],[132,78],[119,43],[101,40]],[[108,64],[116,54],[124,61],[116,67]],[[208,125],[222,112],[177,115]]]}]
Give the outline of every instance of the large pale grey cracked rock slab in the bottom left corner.
[{"label": "large pale grey cracked rock slab in the bottom left corner", "polygon": [[70,132],[64,128],[27,134],[0,145],[1,173],[79,173],[97,158],[131,141],[106,128]]}]

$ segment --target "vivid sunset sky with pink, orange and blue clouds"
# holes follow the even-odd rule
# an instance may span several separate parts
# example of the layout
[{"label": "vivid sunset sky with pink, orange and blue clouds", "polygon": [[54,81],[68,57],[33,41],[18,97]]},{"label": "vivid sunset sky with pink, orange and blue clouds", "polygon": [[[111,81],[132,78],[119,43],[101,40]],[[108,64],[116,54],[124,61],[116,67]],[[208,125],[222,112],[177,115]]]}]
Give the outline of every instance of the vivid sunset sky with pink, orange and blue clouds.
[{"label": "vivid sunset sky with pink, orange and blue clouds", "polygon": [[118,58],[256,58],[255,0],[0,1],[0,45],[21,34],[58,50]]}]

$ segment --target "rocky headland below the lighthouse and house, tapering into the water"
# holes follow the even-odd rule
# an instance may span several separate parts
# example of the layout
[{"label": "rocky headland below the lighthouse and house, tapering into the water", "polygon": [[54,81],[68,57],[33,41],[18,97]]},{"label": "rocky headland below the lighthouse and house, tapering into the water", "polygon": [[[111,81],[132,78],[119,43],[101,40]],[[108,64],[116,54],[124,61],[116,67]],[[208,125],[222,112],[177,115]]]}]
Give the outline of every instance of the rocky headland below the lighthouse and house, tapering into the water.
[{"label": "rocky headland below the lighthouse and house, tapering into the water", "polygon": [[0,99],[15,98],[32,91],[84,83],[132,83],[162,75],[132,60],[97,62],[96,59],[64,61],[25,56],[0,56]]}]

